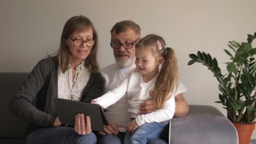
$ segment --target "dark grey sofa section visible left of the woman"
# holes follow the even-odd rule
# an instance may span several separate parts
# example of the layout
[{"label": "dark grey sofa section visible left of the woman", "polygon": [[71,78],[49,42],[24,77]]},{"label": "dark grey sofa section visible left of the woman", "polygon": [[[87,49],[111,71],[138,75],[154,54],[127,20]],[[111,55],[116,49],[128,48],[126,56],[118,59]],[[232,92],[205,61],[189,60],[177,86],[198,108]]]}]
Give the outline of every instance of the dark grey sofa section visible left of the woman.
[{"label": "dark grey sofa section visible left of the woman", "polygon": [[22,138],[27,131],[28,122],[9,111],[11,98],[27,76],[28,73],[0,72],[0,138]]}]

